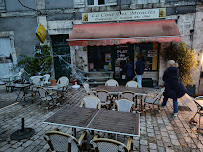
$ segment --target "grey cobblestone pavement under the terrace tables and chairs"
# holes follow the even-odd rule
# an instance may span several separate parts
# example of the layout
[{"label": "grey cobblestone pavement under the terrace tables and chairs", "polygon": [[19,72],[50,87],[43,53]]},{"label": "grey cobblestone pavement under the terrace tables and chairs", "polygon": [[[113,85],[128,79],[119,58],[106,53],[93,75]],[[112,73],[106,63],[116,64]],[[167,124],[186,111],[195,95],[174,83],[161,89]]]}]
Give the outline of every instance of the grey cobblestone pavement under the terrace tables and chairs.
[{"label": "grey cobblestone pavement under the terrace tables and chairs", "polygon": [[[65,94],[66,103],[62,106],[65,104],[78,106],[85,96],[83,88],[79,90],[70,88]],[[7,93],[4,86],[0,86],[0,105],[3,102],[15,103],[15,99],[15,93]],[[25,105],[17,103],[0,109],[0,152],[47,152],[50,151],[49,146],[43,138],[46,131],[58,127],[60,131],[71,133],[71,128],[68,127],[43,124],[43,121],[60,107],[47,111],[45,105],[39,106],[38,101],[39,99],[34,99],[32,103],[28,98]],[[203,151],[203,135],[200,134],[197,140],[197,126],[189,124],[189,120],[196,112],[195,104],[189,98],[179,101],[180,110],[176,118],[172,115],[172,105],[172,101],[169,101],[167,108],[160,113],[154,110],[157,107],[147,107],[146,112],[141,114],[140,137],[133,139],[134,151]],[[33,128],[35,134],[29,139],[11,140],[10,135],[21,128],[22,117],[25,118],[25,127]],[[203,128],[202,124],[201,127]]]}]

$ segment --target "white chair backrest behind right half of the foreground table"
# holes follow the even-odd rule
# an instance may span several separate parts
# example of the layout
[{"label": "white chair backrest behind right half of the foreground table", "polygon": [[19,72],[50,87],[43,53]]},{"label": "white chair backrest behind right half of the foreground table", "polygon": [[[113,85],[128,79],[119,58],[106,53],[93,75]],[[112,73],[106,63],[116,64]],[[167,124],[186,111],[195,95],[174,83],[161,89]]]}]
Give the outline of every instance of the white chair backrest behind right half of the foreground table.
[{"label": "white chair backrest behind right half of the foreground table", "polygon": [[130,112],[133,105],[133,101],[128,98],[121,98],[116,100],[116,104],[118,111]]}]

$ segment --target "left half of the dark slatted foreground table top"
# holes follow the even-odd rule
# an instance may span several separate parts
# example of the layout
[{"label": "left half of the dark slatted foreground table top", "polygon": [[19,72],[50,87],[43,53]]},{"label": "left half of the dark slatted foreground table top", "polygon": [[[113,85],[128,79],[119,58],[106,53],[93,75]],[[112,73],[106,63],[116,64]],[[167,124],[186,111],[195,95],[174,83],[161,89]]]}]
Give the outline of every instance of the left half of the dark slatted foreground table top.
[{"label": "left half of the dark slatted foreground table top", "polygon": [[86,126],[97,113],[97,109],[67,105],[46,119],[49,124],[86,129]]}]

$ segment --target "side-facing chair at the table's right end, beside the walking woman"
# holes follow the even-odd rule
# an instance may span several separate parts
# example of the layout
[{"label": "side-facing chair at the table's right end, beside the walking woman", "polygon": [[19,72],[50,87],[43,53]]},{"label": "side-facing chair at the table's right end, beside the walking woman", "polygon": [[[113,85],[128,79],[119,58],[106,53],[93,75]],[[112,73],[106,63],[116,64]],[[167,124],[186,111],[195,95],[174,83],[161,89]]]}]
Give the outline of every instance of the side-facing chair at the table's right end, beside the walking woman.
[{"label": "side-facing chair at the table's right end, beside the walking woman", "polygon": [[160,92],[159,93],[148,93],[145,97],[145,100],[144,100],[144,109],[145,109],[145,106],[146,104],[152,104],[152,105],[157,105],[158,106],[158,109],[159,109],[159,112],[160,112],[160,99],[163,95],[165,91],[165,88],[161,88],[160,89]]}]

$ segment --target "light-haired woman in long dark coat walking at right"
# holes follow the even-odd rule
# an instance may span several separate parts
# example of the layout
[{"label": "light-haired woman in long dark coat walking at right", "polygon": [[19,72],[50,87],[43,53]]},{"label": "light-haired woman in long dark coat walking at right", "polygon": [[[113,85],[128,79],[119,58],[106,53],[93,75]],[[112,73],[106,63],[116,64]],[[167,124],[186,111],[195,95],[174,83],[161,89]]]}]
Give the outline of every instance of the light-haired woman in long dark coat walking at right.
[{"label": "light-haired woman in long dark coat walking at right", "polygon": [[177,98],[181,98],[186,92],[185,86],[178,79],[179,70],[174,60],[167,62],[167,69],[163,75],[163,81],[165,82],[165,92],[162,107],[165,109],[168,98],[173,99],[173,111],[174,117],[178,114],[178,101]]}]

